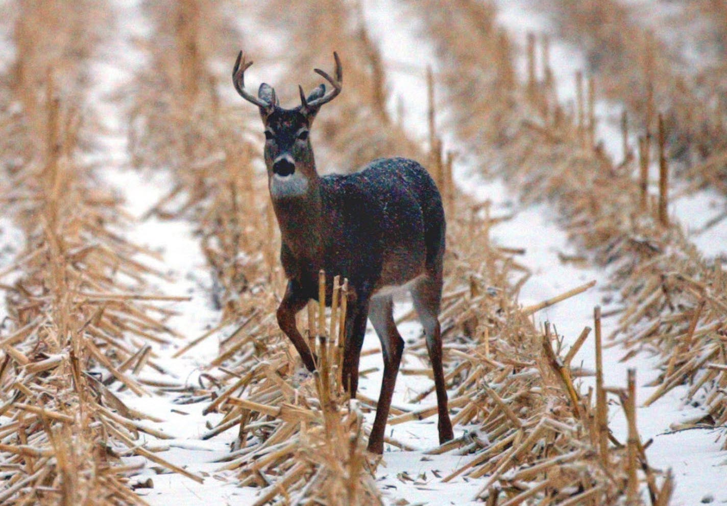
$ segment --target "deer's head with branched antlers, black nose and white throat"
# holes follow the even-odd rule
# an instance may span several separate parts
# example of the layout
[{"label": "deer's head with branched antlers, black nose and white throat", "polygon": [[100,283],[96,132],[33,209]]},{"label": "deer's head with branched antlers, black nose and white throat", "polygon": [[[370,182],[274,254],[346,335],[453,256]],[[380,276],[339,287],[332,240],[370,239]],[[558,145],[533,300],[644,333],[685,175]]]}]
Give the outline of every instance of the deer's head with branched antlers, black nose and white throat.
[{"label": "deer's head with branched antlers, black nose and white throat", "polygon": [[246,62],[242,52],[237,56],[233,83],[242,98],[260,108],[265,127],[265,165],[268,167],[268,186],[273,200],[300,197],[317,183],[318,173],[309,133],[321,106],[341,92],[341,62],[336,52],[333,57],[336,60],[335,79],[320,68],[314,69],[316,74],[331,84],[332,90],[326,93],[326,85],[321,84],[306,97],[299,85],[300,106],[285,109],[280,106],[276,92],[269,84],[260,84],[257,97],[245,90],[244,73],[252,61]]}]

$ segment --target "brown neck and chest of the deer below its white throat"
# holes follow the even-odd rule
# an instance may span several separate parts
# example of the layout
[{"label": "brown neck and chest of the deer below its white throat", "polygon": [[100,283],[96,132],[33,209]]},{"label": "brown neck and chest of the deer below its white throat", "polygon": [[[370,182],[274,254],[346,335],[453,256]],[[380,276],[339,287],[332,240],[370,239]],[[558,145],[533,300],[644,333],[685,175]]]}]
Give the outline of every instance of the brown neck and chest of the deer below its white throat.
[{"label": "brown neck and chest of the deer below its white throat", "polygon": [[273,195],[281,240],[292,253],[310,261],[322,261],[326,220],[323,216],[321,181],[318,175],[307,178],[308,187],[295,196]]}]

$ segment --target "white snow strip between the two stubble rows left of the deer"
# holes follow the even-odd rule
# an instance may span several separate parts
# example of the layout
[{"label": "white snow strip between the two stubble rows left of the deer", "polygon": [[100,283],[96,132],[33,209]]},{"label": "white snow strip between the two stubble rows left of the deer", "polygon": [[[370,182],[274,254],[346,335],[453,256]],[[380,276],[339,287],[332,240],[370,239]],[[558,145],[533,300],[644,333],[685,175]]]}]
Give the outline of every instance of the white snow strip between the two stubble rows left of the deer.
[{"label": "white snow strip between the two stubble rows left of the deer", "polygon": [[[144,54],[135,46],[134,40],[142,39],[148,33],[149,25],[142,16],[140,2],[116,0],[111,4],[116,10],[117,24],[113,38],[103,47],[102,55],[95,63],[95,72],[92,74],[96,80],[89,97],[91,106],[98,111],[105,126],[104,134],[97,138],[99,149],[93,159],[100,165],[97,170],[100,181],[124,199],[126,213],[140,218],[164,197],[173,182],[169,173],[139,172],[130,166],[124,100],[118,100],[116,95],[129,85],[133,72],[144,61]],[[150,288],[155,293],[190,297],[189,301],[167,304],[167,309],[177,314],[166,323],[183,336],[183,341],[180,340],[177,347],[158,346],[153,349],[158,354],[156,363],[167,374],[155,376],[143,373],[142,376],[164,379],[180,387],[198,385],[204,367],[217,357],[220,334],[202,341],[182,357],[172,357],[185,341],[201,336],[220,320],[219,312],[212,307],[212,280],[200,242],[194,235],[194,226],[186,220],[161,221],[152,216],[134,222],[123,232],[128,240],[159,254],[158,258],[143,258],[145,264],[166,274],[166,279],[149,280]],[[145,441],[152,446],[169,447],[159,456],[203,477],[204,483],[196,483],[175,473],[162,471],[162,474],[157,474],[154,466],[148,463],[142,478],[152,478],[153,489],[140,489],[138,493],[150,504],[160,506],[252,502],[257,491],[240,489],[231,473],[217,472],[220,464],[216,461],[228,454],[229,444],[234,438],[233,431],[202,440],[202,435],[209,430],[206,424],[217,422],[221,416],[204,416],[202,410],[207,403],[175,403],[182,393],[155,392],[150,397],[136,397],[130,392],[124,392],[121,398],[127,405],[164,420],[148,424],[171,435],[172,439],[157,440],[148,436]],[[142,460],[135,456],[129,458],[129,462]]]}]

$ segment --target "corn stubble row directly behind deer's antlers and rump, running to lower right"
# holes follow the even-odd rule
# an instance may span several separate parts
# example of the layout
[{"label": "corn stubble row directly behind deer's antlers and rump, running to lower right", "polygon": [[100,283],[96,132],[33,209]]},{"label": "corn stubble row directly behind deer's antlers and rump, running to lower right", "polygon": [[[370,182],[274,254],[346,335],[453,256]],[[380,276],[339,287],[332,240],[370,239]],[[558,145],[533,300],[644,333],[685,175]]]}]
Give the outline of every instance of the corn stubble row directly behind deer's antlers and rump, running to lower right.
[{"label": "corn stubble row directly behind deer's antlers and rump, running to lower right", "polygon": [[[363,131],[364,135],[350,135],[348,125],[343,125],[339,129],[324,129],[324,135],[327,135],[324,136],[322,141],[326,146],[333,146],[329,147],[326,153],[334,151],[332,159],[337,163],[341,163],[341,159],[344,160],[342,170],[350,170],[348,167],[356,167],[358,154],[361,153],[362,149],[379,149],[381,154],[387,154],[393,145],[404,151],[410,150],[411,146],[416,146],[416,143],[407,141],[408,135],[402,129],[401,124],[393,123],[390,119],[382,119],[387,118],[389,113],[381,114],[382,103],[386,103],[385,100],[381,99],[386,98],[386,95],[377,92],[377,87],[382,86],[381,76],[386,76],[386,74],[378,68],[381,66],[380,55],[367,48],[367,45],[371,44],[371,39],[361,27],[361,18],[357,17],[355,11],[346,9],[345,5],[339,2],[327,2],[323,7],[322,10],[318,10],[318,8],[311,9],[301,2],[290,8],[289,12],[292,18],[290,23],[294,25],[295,29],[290,35],[291,44],[283,44],[283,46],[295,45],[294,41],[307,41],[302,58],[304,60],[305,58],[316,58],[316,63],[318,63],[318,60],[322,60],[320,55],[326,54],[326,49],[335,48],[344,56],[345,72],[350,73],[346,75],[352,74],[354,76],[351,78],[354,82],[353,90],[348,92],[350,93],[349,101],[341,104],[342,111],[349,114],[334,116],[332,122],[348,121],[350,117],[356,117],[358,124],[355,128],[358,131]],[[473,6],[473,12],[478,12],[476,9],[477,7]],[[321,12],[334,13],[334,15],[330,17],[321,16]],[[300,20],[307,20],[307,22],[300,23]],[[275,22],[281,23],[278,16],[276,16]],[[348,28],[352,26],[355,28]],[[364,58],[361,58],[361,55],[364,55]],[[368,60],[365,58],[366,55],[369,55]],[[374,55],[374,57],[372,58],[371,55]],[[363,66],[363,68],[359,66]],[[423,72],[424,68],[421,70]],[[290,79],[301,79],[300,73],[300,66],[294,66],[289,71],[289,74],[291,74]],[[366,82],[370,83],[369,87],[362,87],[361,84]],[[387,87],[384,89],[387,90]],[[276,87],[276,91],[285,97],[281,87]],[[322,111],[321,118],[317,119],[317,122],[321,122],[321,119],[326,117],[325,114],[335,115],[335,112],[334,108],[331,108],[331,111]],[[380,129],[382,123],[385,124],[386,128],[383,133],[378,135],[385,135],[390,141],[371,143],[371,137],[366,135],[366,130],[376,131],[376,129]],[[340,139],[345,141],[342,142]],[[374,151],[374,154],[379,154],[379,152]],[[419,157],[419,159],[428,159],[430,170],[435,175],[435,179],[440,176],[438,172],[440,165],[438,165],[436,157],[432,157],[427,151],[421,150],[418,153],[414,151],[414,156]],[[504,250],[489,247],[489,234],[486,232],[478,233],[481,229],[488,229],[499,219],[491,221],[489,216],[485,217],[483,214],[478,213],[478,210],[482,210],[482,206],[475,205],[470,199],[460,194],[459,190],[455,190],[451,186],[451,182],[449,182],[451,181],[449,175],[443,175],[438,181],[440,181],[440,186],[445,195],[451,191],[451,194],[455,196],[448,207],[449,248],[451,250],[446,276],[448,286],[455,293],[459,287],[470,286],[465,294],[452,300],[451,307],[443,311],[446,322],[444,323],[445,327],[448,324],[454,324],[454,327],[448,331],[450,343],[447,346],[448,352],[451,354],[449,355],[450,371],[453,374],[456,373],[453,376],[455,381],[453,387],[456,388],[453,388],[453,390],[459,395],[457,400],[464,398],[468,401],[466,408],[457,411],[457,419],[460,422],[467,422],[470,427],[478,427],[480,433],[486,435],[486,438],[483,438],[481,442],[475,441],[465,445],[465,451],[474,452],[481,460],[478,461],[475,458],[464,467],[458,467],[451,473],[451,477],[447,481],[457,478],[460,473],[470,477],[482,477],[494,473],[494,477],[491,477],[490,480],[483,480],[479,483],[479,487],[484,487],[484,489],[477,494],[480,497],[489,496],[491,497],[490,500],[494,500],[496,494],[494,489],[489,489],[488,482],[490,484],[497,482],[505,488],[511,486],[508,481],[509,478],[505,478],[501,474],[503,470],[510,469],[514,464],[509,460],[509,457],[518,454],[518,459],[527,459],[526,462],[530,464],[542,462],[539,459],[545,459],[545,455],[537,452],[529,454],[529,457],[520,455],[523,448],[530,448],[530,445],[535,444],[544,433],[548,432],[547,429],[535,423],[537,419],[542,419],[542,408],[545,408],[548,402],[561,404],[564,411],[562,412],[563,418],[559,419],[565,426],[569,427],[579,425],[578,415],[574,415],[574,411],[569,411],[577,411],[579,408],[569,405],[566,397],[564,397],[565,392],[560,390],[557,382],[554,382],[555,378],[551,376],[550,365],[548,365],[544,355],[541,354],[542,334],[535,331],[529,324],[526,317],[524,317],[526,313],[521,312],[517,305],[513,304],[515,293],[520,288],[518,280],[522,280],[522,275],[515,274],[517,271],[513,270],[513,266],[515,266],[515,269],[521,268],[516,266],[517,263],[512,258],[507,258],[507,254],[502,256]],[[490,256],[489,259],[488,256]],[[476,286],[471,285],[472,282],[476,282]],[[467,292],[469,292],[469,296],[467,296]],[[485,292],[490,295],[481,298]],[[494,299],[491,299],[491,297],[494,297]],[[474,328],[472,325],[475,325]],[[547,342],[548,346],[550,346],[550,342]],[[414,351],[422,348],[420,341],[418,343],[413,341],[410,345],[410,348]],[[478,358],[465,360],[462,353],[474,353],[478,355]],[[491,360],[494,360],[494,363],[488,361],[490,354],[492,354]],[[511,361],[513,357],[515,357],[515,362]],[[497,360],[503,360],[504,362],[498,363]],[[536,370],[539,373],[534,373]],[[531,375],[531,372],[534,374]],[[507,381],[507,376],[510,373],[515,374],[518,380]],[[533,382],[535,384],[538,384],[538,382],[544,383],[542,387],[537,387]],[[477,406],[478,400],[475,400],[475,398],[478,398],[475,392],[482,391],[481,384],[483,383],[494,385],[498,394],[497,397],[487,397],[485,395],[483,398],[485,404],[480,408]],[[550,386],[546,387],[545,385]],[[374,392],[376,391],[374,390]],[[530,403],[531,409],[526,409],[521,404],[524,400],[522,398],[523,391],[533,392],[533,396],[525,396],[527,397],[525,402]],[[498,408],[489,411],[486,406],[494,407],[498,398],[506,398],[508,403],[512,403],[509,408],[511,411],[507,412],[517,413],[518,415],[514,416],[524,416],[525,418],[522,421],[520,419],[515,421],[514,419],[508,419]],[[472,404],[472,401],[475,403]],[[584,406],[584,409],[588,411],[589,408]],[[414,411],[414,414],[417,412]],[[581,411],[581,414],[584,414],[584,412]],[[406,414],[402,416],[403,419],[407,417]],[[502,425],[503,422],[505,425]],[[510,427],[510,422],[513,423],[513,427]],[[497,427],[497,429],[492,430],[493,427]],[[518,436],[518,434],[520,435]],[[585,443],[584,440],[571,439],[570,436],[566,435],[562,436],[562,438],[555,437],[555,440],[557,440],[555,446],[558,448],[554,450],[556,453],[561,451],[566,453],[569,451],[568,448],[573,448],[573,446],[569,445],[578,446]],[[517,440],[515,438],[523,438],[523,448],[513,446],[513,440]],[[484,443],[484,440],[489,440],[489,443]],[[401,445],[401,440],[398,442],[391,440],[390,442],[394,446],[397,443]],[[464,440],[459,442],[459,444],[462,443],[464,443]],[[488,454],[487,450],[491,446],[497,447],[497,443],[501,443],[499,448],[503,451],[492,456],[488,462],[483,462],[484,456]],[[450,446],[450,448],[456,446]],[[389,454],[385,455],[385,461],[388,457]],[[588,458],[585,458],[585,455],[577,457],[577,459],[581,458],[583,459],[579,461],[579,465],[588,467],[595,464],[592,460],[589,461]],[[612,458],[623,462],[619,460],[619,456],[616,456],[616,454]],[[401,465],[401,459],[396,459],[395,462]],[[527,464],[523,463],[523,465]],[[593,470],[593,468],[591,469]],[[568,473],[572,470],[574,468],[569,467]],[[381,472],[390,473],[387,470]],[[595,481],[590,481],[590,478],[594,476]],[[538,483],[537,480],[542,479],[542,476],[534,475],[532,478],[535,480],[533,483]],[[569,474],[568,478],[565,479],[579,481],[582,478],[578,477],[576,473],[574,475]],[[595,471],[595,474],[591,475],[590,478],[586,488],[595,489],[591,493],[611,494],[611,492],[606,491],[607,487],[600,488],[603,484],[600,481],[598,471]],[[539,483],[538,486],[544,487],[545,485]],[[442,486],[442,490],[446,490],[446,486]],[[567,495],[568,493],[565,492],[564,494]],[[566,497],[566,495],[563,497]]]}]

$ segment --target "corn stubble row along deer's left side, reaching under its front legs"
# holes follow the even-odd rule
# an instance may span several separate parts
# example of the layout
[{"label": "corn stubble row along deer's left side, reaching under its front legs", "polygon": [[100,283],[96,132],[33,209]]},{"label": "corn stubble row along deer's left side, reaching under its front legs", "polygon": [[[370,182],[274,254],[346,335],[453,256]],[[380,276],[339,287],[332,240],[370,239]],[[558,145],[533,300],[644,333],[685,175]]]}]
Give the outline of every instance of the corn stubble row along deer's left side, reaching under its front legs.
[{"label": "corn stubble row along deer's left side, reaching under its front legs", "polygon": [[[145,98],[137,93],[130,118],[132,126],[141,125],[133,147],[137,164],[146,170],[171,167],[178,182],[152,212],[161,217],[187,216],[198,224],[202,249],[219,287],[214,296],[220,301],[222,318],[214,330],[230,329],[221,341],[220,356],[210,364],[215,382],[223,386],[211,395],[202,390],[190,396],[190,400],[204,396],[212,400],[206,413],[225,414],[204,438],[238,430],[236,450],[220,465],[236,470],[241,484],[264,489],[258,504],[331,498],[340,504],[379,504],[364,458],[361,412],[345,402],[337,386],[342,333],[336,329],[345,303],[339,304],[330,323],[322,323],[326,315],[320,310],[311,318],[310,325],[321,330],[308,335],[311,347],[318,350],[322,372],[299,383],[294,374],[297,354],[281,336],[274,317],[276,289],[282,281],[278,232],[265,177],[253,170],[253,153],[259,156],[259,149],[249,145],[241,122],[248,111],[222,105],[216,78],[206,70],[215,57],[212,52],[193,50],[195,58],[189,58],[189,48],[200,47],[202,40],[189,13],[210,19],[220,7],[186,1],[170,4],[170,9],[172,15],[159,18],[153,37],[172,43],[148,44],[153,63],[137,78]],[[169,17],[182,22],[165,23]],[[219,50],[215,44],[210,47]],[[196,70],[188,68],[192,65]],[[157,75],[160,69],[162,74]],[[193,84],[169,92],[152,84],[156,79],[174,82],[177,73],[193,79]],[[222,86],[228,82],[227,77]],[[196,93],[182,92],[189,89]],[[157,107],[148,108],[148,103]],[[172,133],[153,125],[166,125]],[[156,149],[167,135],[176,145]],[[342,280],[337,290],[345,290]],[[212,335],[206,333],[192,344]],[[177,355],[189,349],[184,347]]]}]

